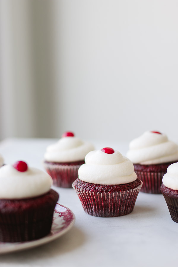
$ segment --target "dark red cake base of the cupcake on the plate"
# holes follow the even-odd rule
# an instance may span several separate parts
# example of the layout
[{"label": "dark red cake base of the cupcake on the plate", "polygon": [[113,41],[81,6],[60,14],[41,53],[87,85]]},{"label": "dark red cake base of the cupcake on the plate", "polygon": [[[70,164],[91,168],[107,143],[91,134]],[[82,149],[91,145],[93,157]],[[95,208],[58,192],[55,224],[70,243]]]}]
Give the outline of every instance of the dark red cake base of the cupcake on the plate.
[{"label": "dark red cake base of the cupcake on the plate", "polygon": [[50,233],[58,193],[19,200],[0,200],[0,241],[21,242]]}]

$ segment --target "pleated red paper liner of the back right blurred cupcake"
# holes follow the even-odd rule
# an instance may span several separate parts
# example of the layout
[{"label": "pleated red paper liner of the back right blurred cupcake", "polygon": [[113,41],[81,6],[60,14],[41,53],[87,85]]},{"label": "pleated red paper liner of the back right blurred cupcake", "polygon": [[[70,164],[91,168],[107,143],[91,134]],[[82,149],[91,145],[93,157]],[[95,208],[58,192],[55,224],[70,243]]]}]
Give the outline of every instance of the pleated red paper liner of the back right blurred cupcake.
[{"label": "pleated red paper liner of the back right blurred cupcake", "polygon": [[143,186],[141,192],[160,194],[160,186],[162,184],[163,175],[165,172],[147,172],[136,171],[137,177],[142,180]]}]

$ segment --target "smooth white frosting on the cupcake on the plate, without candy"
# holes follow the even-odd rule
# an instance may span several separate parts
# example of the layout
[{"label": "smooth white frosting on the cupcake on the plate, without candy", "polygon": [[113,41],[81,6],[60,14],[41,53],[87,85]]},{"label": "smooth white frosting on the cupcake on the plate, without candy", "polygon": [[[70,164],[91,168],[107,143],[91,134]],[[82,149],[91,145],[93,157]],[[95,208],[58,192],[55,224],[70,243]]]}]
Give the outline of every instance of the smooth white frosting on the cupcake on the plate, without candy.
[{"label": "smooth white frosting on the cupcake on the plate, without candy", "polygon": [[8,164],[0,168],[0,185],[0,199],[33,198],[50,190],[52,178],[36,168],[21,172]]}]

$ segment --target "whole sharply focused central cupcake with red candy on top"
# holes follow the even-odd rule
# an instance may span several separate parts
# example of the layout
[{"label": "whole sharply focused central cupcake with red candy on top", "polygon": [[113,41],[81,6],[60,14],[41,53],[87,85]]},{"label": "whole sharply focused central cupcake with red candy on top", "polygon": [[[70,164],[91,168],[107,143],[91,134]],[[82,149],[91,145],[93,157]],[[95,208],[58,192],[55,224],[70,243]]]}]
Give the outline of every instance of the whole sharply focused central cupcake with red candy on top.
[{"label": "whole sharply focused central cupcake with red candy on top", "polygon": [[134,209],[142,186],[131,161],[110,147],[85,156],[73,188],[84,211],[97,217],[117,217]]}]

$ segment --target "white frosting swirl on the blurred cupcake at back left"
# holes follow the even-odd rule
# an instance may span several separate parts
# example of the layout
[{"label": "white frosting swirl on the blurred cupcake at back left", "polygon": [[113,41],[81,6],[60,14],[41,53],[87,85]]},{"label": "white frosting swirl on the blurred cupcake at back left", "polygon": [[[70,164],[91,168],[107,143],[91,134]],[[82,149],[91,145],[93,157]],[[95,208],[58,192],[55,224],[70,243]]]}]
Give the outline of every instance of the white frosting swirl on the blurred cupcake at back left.
[{"label": "white frosting swirl on the blurred cupcake at back left", "polygon": [[52,162],[75,162],[84,160],[85,155],[94,150],[92,144],[75,136],[62,137],[57,143],[47,147],[45,160]]}]

